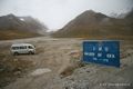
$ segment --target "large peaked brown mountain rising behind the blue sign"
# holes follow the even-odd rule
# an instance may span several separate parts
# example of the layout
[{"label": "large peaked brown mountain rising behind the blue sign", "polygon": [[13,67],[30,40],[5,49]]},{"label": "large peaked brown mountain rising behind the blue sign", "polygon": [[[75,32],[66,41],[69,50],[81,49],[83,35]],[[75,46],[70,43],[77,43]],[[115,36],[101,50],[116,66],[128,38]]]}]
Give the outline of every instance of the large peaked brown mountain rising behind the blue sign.
[{"label": "large peaked brown mountain rising behind the blue sign", "polygon": [[[90,39],[126,39],[133,36],[131,17],[115,19],[100,12],[88,10],[64,28],[54,32],[53,37],[90,38]],[[130,19],[127,19],[130,18]]]}]

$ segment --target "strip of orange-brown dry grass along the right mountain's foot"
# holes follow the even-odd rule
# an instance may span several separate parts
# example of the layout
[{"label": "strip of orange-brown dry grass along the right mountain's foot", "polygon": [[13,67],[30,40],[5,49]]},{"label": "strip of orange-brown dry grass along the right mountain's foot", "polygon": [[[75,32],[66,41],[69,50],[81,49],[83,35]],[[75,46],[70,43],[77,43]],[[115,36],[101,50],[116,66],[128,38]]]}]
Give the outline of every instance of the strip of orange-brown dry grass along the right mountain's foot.
[{"label": "strip of orange-brown dry grass along the right mountain's foot", "polygon": [[133,40],[133,36],[122,36],[122,34],[93,34],[89,32],[79,32],[78,33],[54,33],[53,37],[55,38],[83,38],[89,40]]}]

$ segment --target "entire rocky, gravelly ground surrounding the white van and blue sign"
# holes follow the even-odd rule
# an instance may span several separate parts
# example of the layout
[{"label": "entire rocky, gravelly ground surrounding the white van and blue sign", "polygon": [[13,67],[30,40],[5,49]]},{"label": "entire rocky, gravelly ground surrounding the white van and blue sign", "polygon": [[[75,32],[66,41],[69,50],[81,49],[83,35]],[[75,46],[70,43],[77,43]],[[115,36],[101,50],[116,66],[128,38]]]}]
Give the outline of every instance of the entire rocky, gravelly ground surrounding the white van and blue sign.
[{"label": "entire rocky, gravelly ground surrounding the white van and blue sign", "polygon": [[[37,47],[35,55],[12,56],[10,46],[28,42]],[[83,39],[39,37],[32,39],[0,41],[1,61],[10,60],[16,67],[0,89],[132,89],[133,88],[133,42],[121,40],[121,67],[81,62]],[[3,49],[2,49],[3,48]],[[20,63],[19,69],[18,65]],[[24,63],[23,63],[24,62]],[[3,73],[4,65],[0,72]],[[24,65],[24,67],[23,67]],[[13,71],[16,69],[16,71]],[[7,70],[7,69],[6,69]],[[16,78],[14,78],[16,77]],[[4,79],[3,79],[4,81]],[[2,86],[3,85],[3,86]]]}]

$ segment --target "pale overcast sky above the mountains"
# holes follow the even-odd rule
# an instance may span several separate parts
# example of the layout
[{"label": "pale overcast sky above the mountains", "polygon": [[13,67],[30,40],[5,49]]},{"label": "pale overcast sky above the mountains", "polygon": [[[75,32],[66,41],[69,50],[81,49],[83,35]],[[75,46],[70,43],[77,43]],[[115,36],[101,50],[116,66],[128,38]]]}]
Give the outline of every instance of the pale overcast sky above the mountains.
[{"label": "pale overcast sky above the mountains", "polygon": [[32,16],[55,30],[85,10],[109,16],[127,12],[132,7],[133,0],[0,0],[0,16]]}]

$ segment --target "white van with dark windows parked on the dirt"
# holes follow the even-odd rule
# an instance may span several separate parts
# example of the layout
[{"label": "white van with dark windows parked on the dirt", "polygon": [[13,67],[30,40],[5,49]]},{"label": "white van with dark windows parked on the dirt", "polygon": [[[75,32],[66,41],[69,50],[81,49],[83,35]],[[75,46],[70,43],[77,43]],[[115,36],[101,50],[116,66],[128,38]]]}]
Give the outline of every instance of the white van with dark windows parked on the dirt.
[{"label": "white van with dark windows parked on the dirt", "polygon": [[20,55],[20,53],[34,55],[35,47],[30,43],[14,43],[11,46],[11,52],[12,55]]}]

